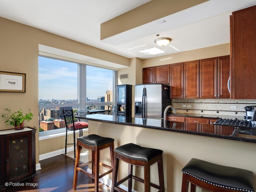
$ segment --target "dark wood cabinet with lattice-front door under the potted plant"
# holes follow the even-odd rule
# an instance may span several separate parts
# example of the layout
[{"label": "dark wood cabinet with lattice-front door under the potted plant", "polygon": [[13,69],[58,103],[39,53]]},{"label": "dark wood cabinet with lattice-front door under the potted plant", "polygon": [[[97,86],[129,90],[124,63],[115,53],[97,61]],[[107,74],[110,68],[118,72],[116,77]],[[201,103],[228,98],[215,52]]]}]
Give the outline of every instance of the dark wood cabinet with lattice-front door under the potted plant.
[{"label": "dark wood cabinet with lattice-front door under the potted plant", "polygon": [[34,128],[0,131],[0,189],[36,175]]}]

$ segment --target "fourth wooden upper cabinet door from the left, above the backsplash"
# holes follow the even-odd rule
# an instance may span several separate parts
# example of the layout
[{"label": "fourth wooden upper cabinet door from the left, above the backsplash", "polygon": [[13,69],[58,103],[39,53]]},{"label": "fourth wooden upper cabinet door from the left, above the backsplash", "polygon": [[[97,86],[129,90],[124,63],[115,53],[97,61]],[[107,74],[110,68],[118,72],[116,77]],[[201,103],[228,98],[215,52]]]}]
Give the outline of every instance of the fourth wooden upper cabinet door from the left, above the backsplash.
[{"label": "fourth wooden upper cabinet door from the left, above the backsplash", "polygon": [[183,98],[199,98],[199,61],[184,63]]}]

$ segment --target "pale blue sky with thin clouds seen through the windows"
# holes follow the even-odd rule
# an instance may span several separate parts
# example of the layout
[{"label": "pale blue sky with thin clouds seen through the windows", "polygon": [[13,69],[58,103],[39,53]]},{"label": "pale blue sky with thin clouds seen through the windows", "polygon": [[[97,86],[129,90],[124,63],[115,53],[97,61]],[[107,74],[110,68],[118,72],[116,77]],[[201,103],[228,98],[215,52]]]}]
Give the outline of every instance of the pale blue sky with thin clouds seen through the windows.
[{"label": "pale blue sky with thin clouds seen through the windows", "polygon": [[[38,99],[77,99],[78,64],[45,57],[38,60]],[[106,90],[112,90],[112,76],[112,70],[87,66],[88,99],[97,99],[97,96],[104,96]]]}]

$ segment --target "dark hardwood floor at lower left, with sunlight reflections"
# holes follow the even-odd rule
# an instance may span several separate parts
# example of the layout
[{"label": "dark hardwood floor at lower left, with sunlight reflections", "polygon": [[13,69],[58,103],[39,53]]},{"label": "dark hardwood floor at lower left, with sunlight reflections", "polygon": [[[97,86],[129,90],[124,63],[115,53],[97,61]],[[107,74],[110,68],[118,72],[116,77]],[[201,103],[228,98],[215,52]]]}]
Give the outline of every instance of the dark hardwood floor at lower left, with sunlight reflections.
[{"label": "dark hardwood floor at lower left, with sunlight reflections", "polygon": [[[94,180],[85,174],[78,173],[76,190],[73,190],[74,160],[58,155],[40,161],[41,170],[36,171],[34,180],[23,183],[38,186],[9,186],[4,192],[94,192]],[[110,188],[102,183],[100,192],[110,192]]]}]

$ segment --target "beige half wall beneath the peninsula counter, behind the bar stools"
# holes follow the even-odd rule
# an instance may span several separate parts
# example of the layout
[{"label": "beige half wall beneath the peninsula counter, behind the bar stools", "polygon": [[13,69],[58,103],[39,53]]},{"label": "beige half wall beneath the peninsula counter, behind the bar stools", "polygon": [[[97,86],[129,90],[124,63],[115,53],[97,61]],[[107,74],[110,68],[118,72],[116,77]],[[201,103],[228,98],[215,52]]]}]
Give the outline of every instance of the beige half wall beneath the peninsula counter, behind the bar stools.
[{"label": "beige half wall beneath the peninsula counter, behind the bar stools", "polygon": [[[140,146],[163,150],[166,192],[181,191],[181,170],[191,158],[251,170],[254,172],[254,181],[256,178],[256,144],[254,143],[91,120],[89,120],[89,134],[113,138],[115,148],[132,142]],[[154,164],[150,171],[152,182],[158,184],[157,164]],[[134,172],[143,178],[141,169],[134,168]],[[120,175],[123,178],[128,175],[127,164],[121,164]],[[135,190],[143,191],[143,187],[136,185]],[[200,191],[196,190],[196,192]]]}]

